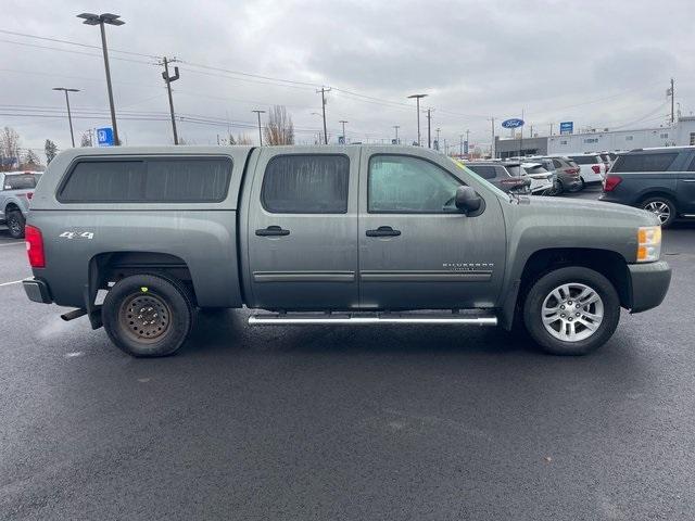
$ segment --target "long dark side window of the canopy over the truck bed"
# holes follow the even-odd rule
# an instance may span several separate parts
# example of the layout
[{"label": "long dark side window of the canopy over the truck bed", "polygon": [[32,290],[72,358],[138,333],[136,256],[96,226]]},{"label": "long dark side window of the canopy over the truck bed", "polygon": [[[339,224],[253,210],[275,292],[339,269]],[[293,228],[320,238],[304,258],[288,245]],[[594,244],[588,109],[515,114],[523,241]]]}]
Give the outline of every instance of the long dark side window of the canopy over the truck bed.
[{"label": "long dark side window of the canopy over the truck bed", "polygon": [[218,203],[227,196],[229,157],[80,160],[59,188],[61,203]]}]

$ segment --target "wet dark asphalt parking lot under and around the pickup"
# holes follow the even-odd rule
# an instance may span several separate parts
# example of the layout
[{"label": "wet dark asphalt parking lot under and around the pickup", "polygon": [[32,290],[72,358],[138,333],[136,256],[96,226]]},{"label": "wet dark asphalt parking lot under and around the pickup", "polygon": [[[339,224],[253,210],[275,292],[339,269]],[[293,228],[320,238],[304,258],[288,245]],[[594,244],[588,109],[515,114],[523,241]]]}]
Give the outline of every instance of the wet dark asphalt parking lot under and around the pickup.
[{"label": "wet dark asphalt parking lot under and around the pickup", "polygon": [[134,359],[28,302],[0,229],[0,519],[695,519],[695,225],[664,252],[666,302],[587,357],[229,310]]}]

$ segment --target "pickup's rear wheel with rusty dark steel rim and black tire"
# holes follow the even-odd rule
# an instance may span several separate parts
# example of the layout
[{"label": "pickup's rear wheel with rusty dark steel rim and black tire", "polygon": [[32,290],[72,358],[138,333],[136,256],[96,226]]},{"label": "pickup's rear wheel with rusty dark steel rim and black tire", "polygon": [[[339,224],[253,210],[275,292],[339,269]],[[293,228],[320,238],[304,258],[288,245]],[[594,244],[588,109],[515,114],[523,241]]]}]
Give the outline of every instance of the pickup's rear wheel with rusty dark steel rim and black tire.
[{"label": "pickup's rear wheel with rusty dark steel rim and black tire", "polygon": [[109,291],[101,316],[106,334],[121,351],[137,357],[166,356],[188,338],[193,305],[176,280],[134,275]]}]

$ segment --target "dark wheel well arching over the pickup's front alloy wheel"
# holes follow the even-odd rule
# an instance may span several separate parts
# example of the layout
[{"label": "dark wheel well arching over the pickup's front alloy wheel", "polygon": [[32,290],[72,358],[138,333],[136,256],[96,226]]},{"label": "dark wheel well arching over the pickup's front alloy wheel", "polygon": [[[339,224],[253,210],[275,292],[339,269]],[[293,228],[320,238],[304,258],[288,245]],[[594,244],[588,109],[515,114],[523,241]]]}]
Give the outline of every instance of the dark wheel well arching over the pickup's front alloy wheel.
[{"label": "dark wheel well arching over the pickup's front alloy wheel", "polygon": [[533,253],[526,262],[519,287],[518,307],[531,285],[545,274],[567,266],[582,266],[598,271],[614,285],[620,297],[620,305],[628,307],[631,301],[630,275],[622,255],[609,250],[587,247],[556,247]]}]

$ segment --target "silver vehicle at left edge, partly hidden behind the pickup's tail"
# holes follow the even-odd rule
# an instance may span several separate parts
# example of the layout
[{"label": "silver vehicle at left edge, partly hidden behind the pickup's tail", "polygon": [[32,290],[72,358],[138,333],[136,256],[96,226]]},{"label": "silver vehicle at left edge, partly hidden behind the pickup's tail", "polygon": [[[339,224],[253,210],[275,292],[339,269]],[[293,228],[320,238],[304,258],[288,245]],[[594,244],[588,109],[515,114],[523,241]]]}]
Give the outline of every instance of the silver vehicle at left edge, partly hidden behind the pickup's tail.
[{"label": "silver vehicle at left edge, partly hidden behind the pickup's tail", "polygon": [[0,173],[0,224],[15,239],[24,238],[24,223],[34,189],[41,178],[36,171]]}]

